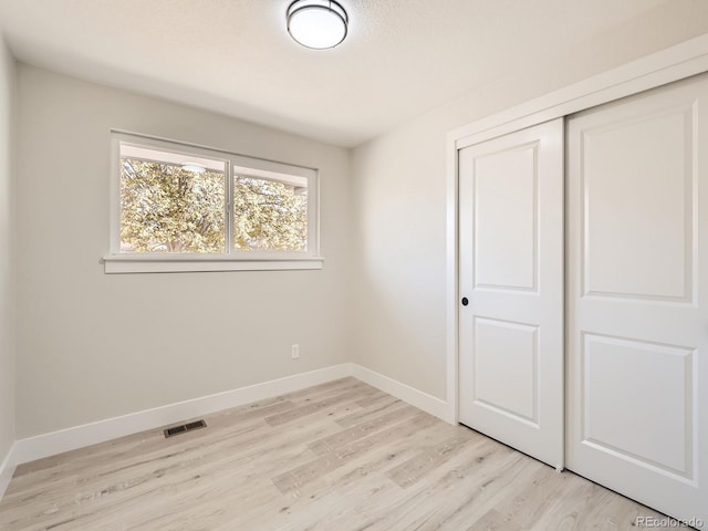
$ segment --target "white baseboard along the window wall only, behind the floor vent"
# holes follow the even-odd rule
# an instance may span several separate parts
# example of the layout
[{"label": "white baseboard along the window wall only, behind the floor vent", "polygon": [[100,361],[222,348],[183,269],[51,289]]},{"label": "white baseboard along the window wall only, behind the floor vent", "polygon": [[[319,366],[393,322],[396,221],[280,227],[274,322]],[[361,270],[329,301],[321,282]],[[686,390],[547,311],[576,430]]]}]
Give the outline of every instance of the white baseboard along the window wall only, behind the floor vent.
[{"label": "white baseboard along the window wall only, behind the floor vent", "polygon": [[305,387],[323,384],[333,379],[344,378],[351,376],[351,372],[350,364],[344,363],[309,373],[272,379],[262,384],[249,385],[248,387],[240,387],[233,391],[20,439],[14,444],[10,459],[14,465],[21,465],[146,429],[154,429],[159,426],[242,406],[264,398],[292,393],[293,391],[304,389]]}]

